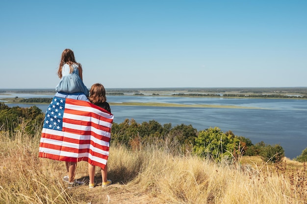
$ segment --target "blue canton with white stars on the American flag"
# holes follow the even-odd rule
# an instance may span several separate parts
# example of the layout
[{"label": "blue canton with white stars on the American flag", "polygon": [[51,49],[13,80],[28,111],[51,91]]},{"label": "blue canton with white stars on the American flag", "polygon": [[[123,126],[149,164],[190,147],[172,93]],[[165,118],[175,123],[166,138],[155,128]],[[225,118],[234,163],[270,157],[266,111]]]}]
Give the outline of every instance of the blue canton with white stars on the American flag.
[{"label": "blue canton with white stars on the American flag", "polygon": [[62,131],[65,98],[53,97],[46,111],[43,128]]}]

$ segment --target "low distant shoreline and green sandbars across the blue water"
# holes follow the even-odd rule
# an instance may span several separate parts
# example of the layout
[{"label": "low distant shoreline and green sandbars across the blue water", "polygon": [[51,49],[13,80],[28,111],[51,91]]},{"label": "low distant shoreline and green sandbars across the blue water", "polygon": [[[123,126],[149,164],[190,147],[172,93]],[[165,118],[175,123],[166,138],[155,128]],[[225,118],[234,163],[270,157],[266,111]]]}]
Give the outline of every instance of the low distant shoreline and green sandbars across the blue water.
[{"label": "low distant shoreline and green sandbars across the blue water", "polygon": [[[168,96],[168,97],[204,97],[204,98],[253,98],[253,99],[307,99],[307,87],[280,87],[280,88],[119,88],[106,89],[108,95],[121,96]],[[49,104],[44,102],[21,102],[23,97],[12,97],[16,94],[53,95],[54,89],[0,89],[0,100],[4,103],[20,104]],[[7,96],[7,97],[3,97]],[[11,97],[10,97],[11,96]],[[35,96],[32,98],[36,98]],[[47,98],[47,97],[46,97]],[[46,100],[47,101],[47,100]],[[113,106],[160,106],[160,107],[199,107],[199,108],[240,108],[258,109],[254,107],[228,105],[183,105],[169,103],[110,103]]]}]

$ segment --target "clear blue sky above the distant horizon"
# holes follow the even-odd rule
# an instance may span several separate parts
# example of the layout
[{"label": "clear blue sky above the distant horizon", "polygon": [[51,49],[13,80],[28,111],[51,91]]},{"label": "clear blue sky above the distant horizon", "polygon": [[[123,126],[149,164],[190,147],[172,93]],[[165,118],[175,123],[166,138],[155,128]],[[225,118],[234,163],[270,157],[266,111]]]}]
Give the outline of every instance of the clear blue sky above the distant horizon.
[{"label": "clear blue sky above the distant horizon", "polygon": [[307,0],[1,0],[0,89],[306,87]]}]

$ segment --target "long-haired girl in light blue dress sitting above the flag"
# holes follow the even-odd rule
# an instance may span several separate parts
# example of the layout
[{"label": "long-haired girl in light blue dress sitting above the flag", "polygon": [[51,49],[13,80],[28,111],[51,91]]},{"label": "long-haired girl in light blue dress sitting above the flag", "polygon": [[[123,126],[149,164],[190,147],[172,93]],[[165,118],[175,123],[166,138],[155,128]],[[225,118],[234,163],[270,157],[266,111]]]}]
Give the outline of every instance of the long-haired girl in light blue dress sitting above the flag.
[{"label": "long-haired girl in light blue dress sitting above the flag", "polygon": [[55,91],[65,93],[82,92],[88,96],[89,91],[82,81],[82,67],[76,62],[73,50],[65,49],[62,52],[57,75],[61,79]]}]

